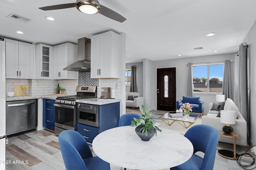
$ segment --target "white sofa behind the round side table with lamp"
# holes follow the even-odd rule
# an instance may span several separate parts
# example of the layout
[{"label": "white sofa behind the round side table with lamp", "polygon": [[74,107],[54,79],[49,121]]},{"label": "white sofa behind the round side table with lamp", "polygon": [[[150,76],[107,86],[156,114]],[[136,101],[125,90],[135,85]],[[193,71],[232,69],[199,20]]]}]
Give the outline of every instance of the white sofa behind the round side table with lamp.
[{"label": "white sofa behind the round side table with lamp", "polygon": [[[210,104],[209,108],[212,108],[212,104]],[[238,139],[236,139],[237,145],[246,146],[247,145],[247,123],[241,113],[238,111],[238,107],[234,104],[231,99],[227,99],[224,104],[224,110],[233,110],[237,112],[236,124],[231,125],[234,128],[234,132],[240,135]],[[209,111],[207,115],[202,116],[202,124],[210,125],[215,127],[218,131],[222,131],[222,127],[225,125],[224,123],[220,123],[220,117],[216,117],[218,112],[214,113],[214,111]],[[234,143],[233,139],[222,137],[219,135],[219,141],[225,143]]]}]

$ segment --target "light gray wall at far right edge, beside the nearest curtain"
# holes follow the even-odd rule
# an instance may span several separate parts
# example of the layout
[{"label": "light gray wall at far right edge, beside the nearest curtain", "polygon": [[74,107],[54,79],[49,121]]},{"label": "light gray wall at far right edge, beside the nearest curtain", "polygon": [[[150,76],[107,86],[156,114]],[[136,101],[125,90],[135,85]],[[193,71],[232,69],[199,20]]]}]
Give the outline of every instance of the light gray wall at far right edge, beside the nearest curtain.
[{"label": "light gray wall at far right edge, beside the nearest curtain", "polygon": [[[252,26],[244,42],[249,44],[250,47],[250,98],[249,98],[249,109],[250,109],[250,141],[251,146],[256,145],[256,114],[254,113],[254,104],[256,103],[256,22]],[[243,43],[243,42],[241,42]],[[254,152],[256,148],[254,147]]]}]

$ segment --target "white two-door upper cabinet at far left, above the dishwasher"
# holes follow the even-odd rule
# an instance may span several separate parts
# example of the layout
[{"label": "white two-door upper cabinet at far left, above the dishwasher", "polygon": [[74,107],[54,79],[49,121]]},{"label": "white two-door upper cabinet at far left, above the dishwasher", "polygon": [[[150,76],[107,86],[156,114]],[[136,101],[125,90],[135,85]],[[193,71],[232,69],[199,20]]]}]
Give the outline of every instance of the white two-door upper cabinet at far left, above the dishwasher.
[{"label": "white two-door upper cabinet at far left, above the dishwasher", "polygon": [[6,39],[6,78],[32,79],[35,45]]}]

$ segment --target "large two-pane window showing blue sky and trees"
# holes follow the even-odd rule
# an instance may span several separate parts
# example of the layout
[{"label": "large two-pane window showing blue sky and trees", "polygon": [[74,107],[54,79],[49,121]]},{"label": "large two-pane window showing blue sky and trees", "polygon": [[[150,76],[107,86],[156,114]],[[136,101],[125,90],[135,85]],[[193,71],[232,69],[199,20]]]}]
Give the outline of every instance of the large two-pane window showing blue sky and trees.
[{"label": "large two-pane window showing blue sky and trees", "polygon": [[222,92],[224,63],[194,64],[194,92]]}]

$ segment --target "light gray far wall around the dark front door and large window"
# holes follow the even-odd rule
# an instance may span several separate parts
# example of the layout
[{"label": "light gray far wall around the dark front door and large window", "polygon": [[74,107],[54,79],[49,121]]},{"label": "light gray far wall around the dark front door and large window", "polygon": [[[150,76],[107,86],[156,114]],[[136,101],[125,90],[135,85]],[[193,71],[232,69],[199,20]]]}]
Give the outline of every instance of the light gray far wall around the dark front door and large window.
[{"label": "light gray far wall around the dark front door and large window", "polygon": [[[157,68],[168,68],[168,67],[176,67],[176,100],[182,99],[182,96],[187,96],[187,80],[188,77],[188,67],[186,63],[207,63],[207,62],[220,62],[224,60],[233,60],[234,53],[230,54],[220,54],[220,55],[209,55],[209,56],[201,56],[201,57],[189,57],[189,58],[181,58],[181,59],[170,59],[170,60],[161,60],[161,61],[151,61],[151,64],[147,64],[148,62],[144,63],[145,68],[144,71],[148,71],[148,76],[146,80],[148,83],[151,83],[152,86],[150,90],[150,95],[148,93],[144,93],[144,96],[150,96],[152,101],[147,100],[146,106],[148,109],[156,109],[156,69]],[[231,72],[234,72],[234,63],[231,63]],[[144,75],[143,75],[144,76]],[[233,77],[234,75],[232,75]],[[152,80],[152,82],[150,81]],[[148,86],[149,84],[145,83],[144,87]],[[215,102],[216,94],[202,94],[202,93],[195,93],[195,97],[200,97],[200,100],[204,101],[204,112],[208,112],[209,110],[209,103]],[[151,105],[150,105],[151,104]]]}]

